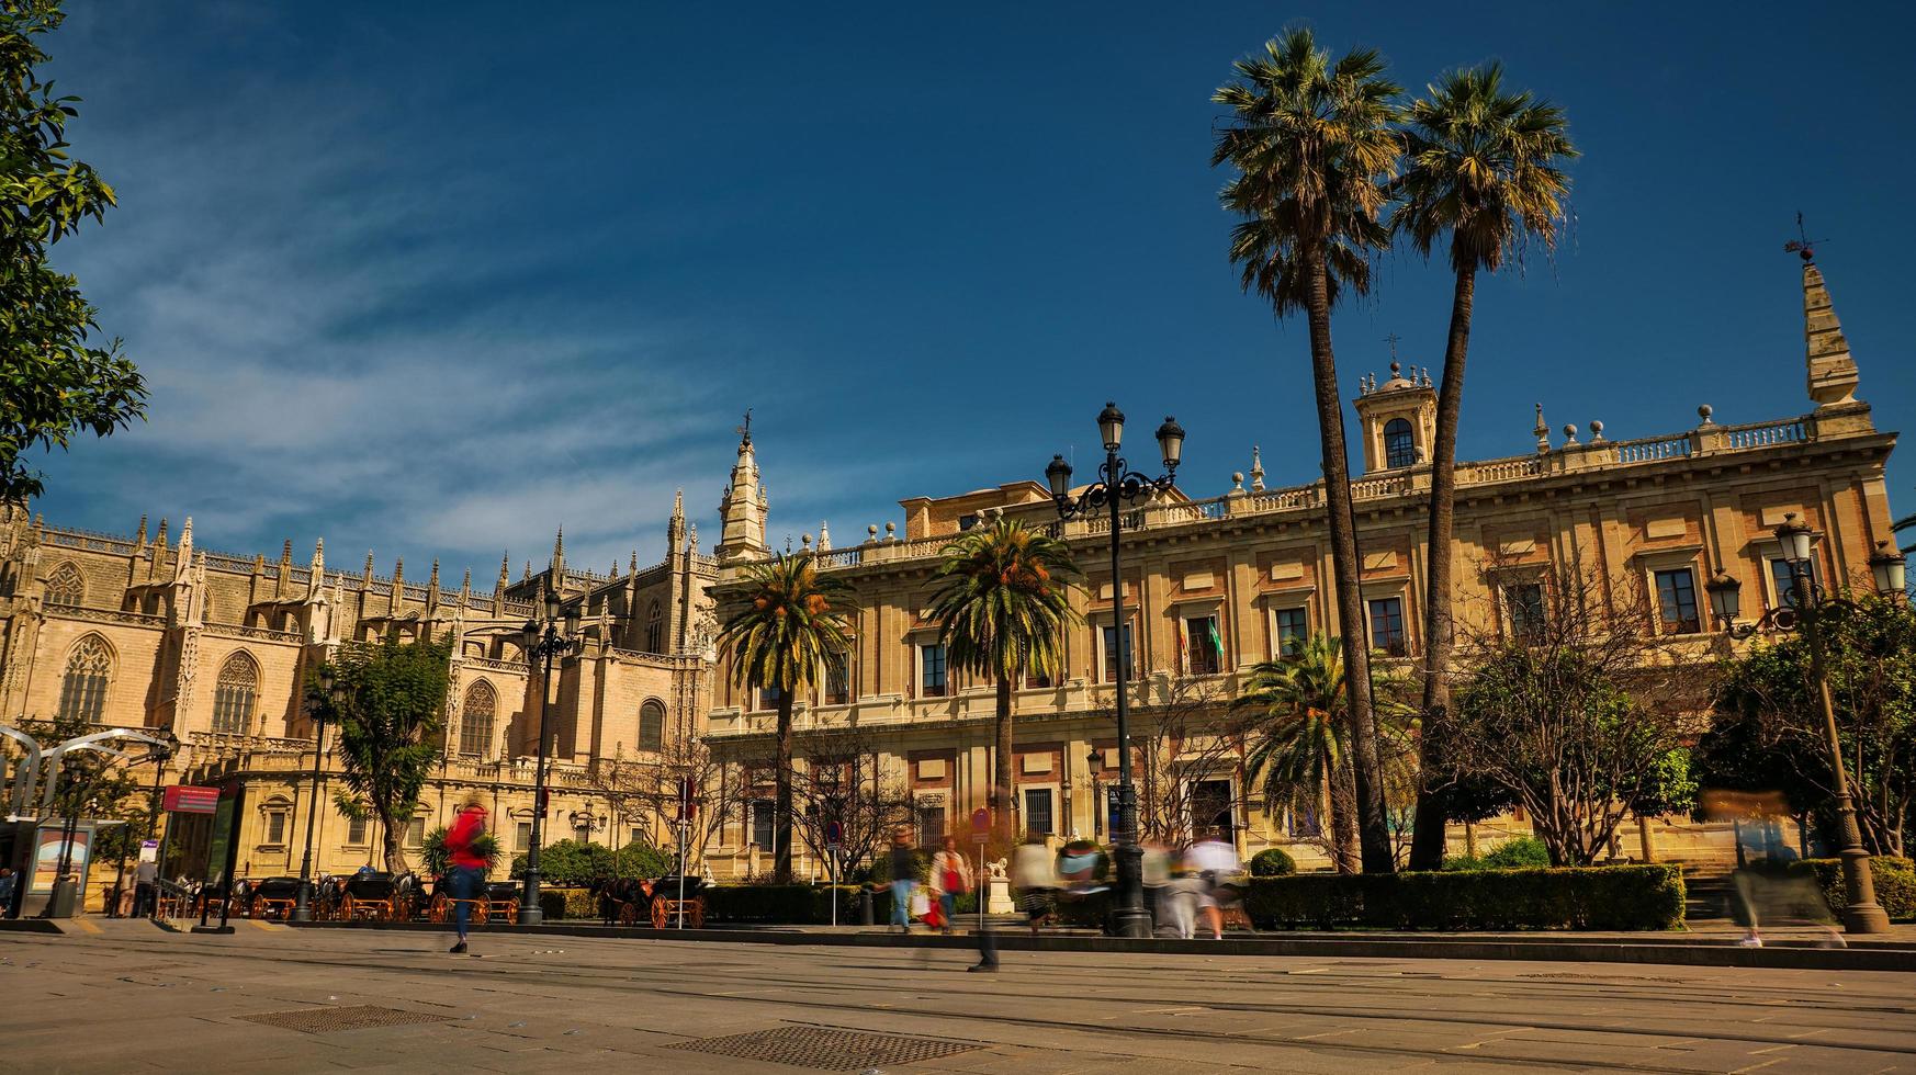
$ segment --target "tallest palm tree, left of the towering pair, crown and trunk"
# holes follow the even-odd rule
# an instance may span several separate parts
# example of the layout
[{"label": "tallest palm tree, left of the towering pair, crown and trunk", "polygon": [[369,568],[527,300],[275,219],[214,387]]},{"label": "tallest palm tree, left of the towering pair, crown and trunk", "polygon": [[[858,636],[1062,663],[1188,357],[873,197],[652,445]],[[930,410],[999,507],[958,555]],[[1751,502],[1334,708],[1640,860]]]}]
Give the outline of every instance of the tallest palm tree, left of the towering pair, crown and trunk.
[{"label": "tallest palm tree, left of the towering pair, crown and trunk", "polygon": [[1403,149],[1391,103],[1401,88],[1385,79],[1378,52],[1360,48],[1334,61],[1309,29],[1266,42],[1263,56],[1240,59],[1234,69],[1236,80],[1211,98],[1230,109],[1211,163],[1238,171],[1219,197],[1245,218],[1230,245],[1232,261],[1243,264],[1243,287],[1270,299],[1278,316],[1303,310],[1311,330],[1332,571],[1345,619],[1343,663],[1355,669],[1345,676],[1345,690],[1358,843],[1364,870],[1387,874],[1393,868],[1391,834],[1370,701],[1330,309],[1341,293],[1368,287],[1364,259],[1387,240],[1378,213],[1385,201],[1383,184],[1395,176]]}]

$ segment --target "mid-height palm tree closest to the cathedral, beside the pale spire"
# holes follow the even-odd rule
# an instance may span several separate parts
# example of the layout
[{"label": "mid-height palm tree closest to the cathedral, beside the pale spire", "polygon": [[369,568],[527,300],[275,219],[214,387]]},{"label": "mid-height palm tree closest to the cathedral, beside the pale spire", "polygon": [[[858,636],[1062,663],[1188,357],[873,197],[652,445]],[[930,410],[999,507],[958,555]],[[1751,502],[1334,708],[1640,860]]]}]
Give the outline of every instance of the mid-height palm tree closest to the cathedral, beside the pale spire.
[{"label": "mid-height palm tree closest to the cathedral, beside the pale spire", "polygon": [[747,604],[726,619],[718,648],[732,663],[732,682],[745,690],[776,690],[778,772],[772,805],[772,876],[791,881],[791,701],[818,680],[833,653],[851,650],[851,617],[858,604],[851,586],[822,575],[810,554],[747,563]]}]

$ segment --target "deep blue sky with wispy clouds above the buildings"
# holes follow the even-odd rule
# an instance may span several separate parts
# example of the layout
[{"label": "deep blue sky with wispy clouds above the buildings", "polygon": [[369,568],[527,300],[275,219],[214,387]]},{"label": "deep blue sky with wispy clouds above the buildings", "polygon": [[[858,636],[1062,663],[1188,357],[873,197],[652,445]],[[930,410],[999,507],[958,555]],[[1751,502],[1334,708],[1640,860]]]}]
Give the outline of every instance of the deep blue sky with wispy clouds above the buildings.
[{"label": "deep blue sky with wispy clouds above the buildings", "polygon": [[[1479,282],[1462,454],[1809,410],[1801,209],[1885,429],[1916,410],[1906,8],[75,4],[52,73],[117,184],[59,247],[153,389],[48,460],[52,521],[326,537],[423,577],[717,542],[753,408],[782,542],[897,500],[1190,431],[1186,489],[1263,445],[1309,481],[1301,324],[1224,259],[1211,90],[1309,21],[1420,88],[1500,57],[1585,155],[1556,259]],[[1334,332],[1347,395],[1441,360],[1450,278],[1408,253]],[[1355,416],[1353,416],[1355,422]],[[1916,456],[1891,466],[1916,510]]]}]

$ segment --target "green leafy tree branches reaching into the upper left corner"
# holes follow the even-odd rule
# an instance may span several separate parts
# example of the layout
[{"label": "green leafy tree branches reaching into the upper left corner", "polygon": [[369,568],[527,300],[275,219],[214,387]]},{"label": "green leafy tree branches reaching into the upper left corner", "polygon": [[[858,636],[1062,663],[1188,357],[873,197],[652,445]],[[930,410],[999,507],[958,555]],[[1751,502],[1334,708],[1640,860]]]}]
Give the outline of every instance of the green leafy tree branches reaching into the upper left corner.
[{"label": "green leafy tree branches reaching into the upper left corner", "polygon": [[102,220],[113,188],[67,153],[79,98],[56,98],[36,67],[59,29],[57,0],[0,4],[0,500],[42,491],[21,456],[105,437],[146,414],[146,383],[121,341],[96,343],[98,310],[50,264],[54,243]]}]

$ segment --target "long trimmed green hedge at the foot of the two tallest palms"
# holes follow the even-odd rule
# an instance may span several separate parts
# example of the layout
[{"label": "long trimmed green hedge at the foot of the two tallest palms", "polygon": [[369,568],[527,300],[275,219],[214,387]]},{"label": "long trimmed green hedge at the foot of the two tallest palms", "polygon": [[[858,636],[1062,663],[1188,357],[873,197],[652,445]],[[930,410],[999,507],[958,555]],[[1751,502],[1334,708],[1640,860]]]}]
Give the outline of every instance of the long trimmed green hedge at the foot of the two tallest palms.
[{"label": "long trimmed green hedge at the foot of the two tallest palms", "polygon": [[1676,929],[1676,866],[1251,878],[1261,929]]}]

